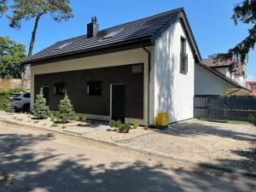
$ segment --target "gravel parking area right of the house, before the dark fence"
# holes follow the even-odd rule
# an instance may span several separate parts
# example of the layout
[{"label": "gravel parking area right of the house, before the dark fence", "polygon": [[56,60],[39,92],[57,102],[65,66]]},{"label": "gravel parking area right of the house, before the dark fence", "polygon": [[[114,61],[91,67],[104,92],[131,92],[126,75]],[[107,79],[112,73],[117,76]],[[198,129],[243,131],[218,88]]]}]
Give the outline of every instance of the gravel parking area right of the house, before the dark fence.
[{"label": "gravel parking area right of the house, before the dark fence", "polygon": [[177,160],[256,172],[256,126],[198,119],[171,126],[118,143]]}]

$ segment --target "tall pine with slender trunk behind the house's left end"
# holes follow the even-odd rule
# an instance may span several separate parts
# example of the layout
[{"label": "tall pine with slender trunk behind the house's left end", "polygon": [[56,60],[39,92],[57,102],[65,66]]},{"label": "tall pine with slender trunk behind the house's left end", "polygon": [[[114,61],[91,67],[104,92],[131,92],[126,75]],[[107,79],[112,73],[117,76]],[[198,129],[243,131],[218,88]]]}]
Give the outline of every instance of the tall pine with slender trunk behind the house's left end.
[{"label": "tall pine with slender trunk behind the house's left end", "polygon": [[[0,0],[1,1],[1,0]],[[60,22],[69,20],[73,17],[72,8],[69,7],[70,0],[13,0],[14,3],[9,7],[13,10],[13,15],[8,16],[9,26],[20,29],[22,20],[34,19],[32,38],[29,44],[28,56],[32,55],[32,50],[38,31],[38,22],[43,15],[51,17]],[[30,67],[26,66],[22,76],[22,87],[26,88],[26,81],[30,79]]]}]

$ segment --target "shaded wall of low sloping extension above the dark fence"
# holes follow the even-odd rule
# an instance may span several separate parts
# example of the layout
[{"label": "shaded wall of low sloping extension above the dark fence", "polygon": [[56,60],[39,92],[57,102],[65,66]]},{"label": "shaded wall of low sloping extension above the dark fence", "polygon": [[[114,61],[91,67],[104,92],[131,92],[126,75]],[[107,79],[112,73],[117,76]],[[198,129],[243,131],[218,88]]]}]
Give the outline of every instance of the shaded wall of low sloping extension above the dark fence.
[{"label": "shaded wall of low sloping extension above the dark fence", "polygon": [[199,64],[195,64],[195,95],[224,96],[224,90],[229,88],[236,87]]}]

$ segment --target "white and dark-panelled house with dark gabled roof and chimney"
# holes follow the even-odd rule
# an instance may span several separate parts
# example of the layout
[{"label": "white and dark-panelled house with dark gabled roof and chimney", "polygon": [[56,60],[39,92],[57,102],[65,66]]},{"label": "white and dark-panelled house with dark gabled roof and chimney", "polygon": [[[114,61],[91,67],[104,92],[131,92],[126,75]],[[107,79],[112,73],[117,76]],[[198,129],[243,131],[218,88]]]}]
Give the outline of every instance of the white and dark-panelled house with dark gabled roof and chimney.
[{"label": "white and dark-panelled house with dark gabled roof and chimney", "polygon": [[32,66],[32,108],[43,88],[50,110],[68,95],[89,119],[141,125],[154,125],[159,112],[168,112],[170,122],[194,117],[195,63],[201,55],[183,9],[102,31],[92,18],[87,35],[24,62]]}]

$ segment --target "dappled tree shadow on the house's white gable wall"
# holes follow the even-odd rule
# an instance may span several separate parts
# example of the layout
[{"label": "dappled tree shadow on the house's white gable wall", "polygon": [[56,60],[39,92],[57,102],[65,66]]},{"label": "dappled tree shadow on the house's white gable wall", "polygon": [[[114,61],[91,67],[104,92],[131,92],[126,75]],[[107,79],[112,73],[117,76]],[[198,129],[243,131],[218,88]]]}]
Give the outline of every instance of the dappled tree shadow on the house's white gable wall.
[{"label": "dappled tree shadow on the house's white gable wall", "polygon": [[[172,26],[173,27],[173,26]],[[173,32],[167,32],[168,35],[163,35],[159,41],[159,47],[156,49],[157,66],[155,67],[156,79],[158,79],[157,87],[157,100],[158,105],[155,106],[155,112],[168,112],[169,119],[173,122],[176,121],[178,113],[174,108],[172,89],[175,78],[175,66],[177,63],[175,56],[171,52],[172,39],[174,38]],[[157,88],[156,88],[157,89]],[[182,88],[181,88],[182,89]]]}]

